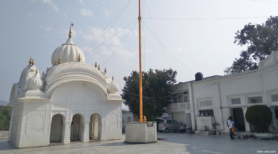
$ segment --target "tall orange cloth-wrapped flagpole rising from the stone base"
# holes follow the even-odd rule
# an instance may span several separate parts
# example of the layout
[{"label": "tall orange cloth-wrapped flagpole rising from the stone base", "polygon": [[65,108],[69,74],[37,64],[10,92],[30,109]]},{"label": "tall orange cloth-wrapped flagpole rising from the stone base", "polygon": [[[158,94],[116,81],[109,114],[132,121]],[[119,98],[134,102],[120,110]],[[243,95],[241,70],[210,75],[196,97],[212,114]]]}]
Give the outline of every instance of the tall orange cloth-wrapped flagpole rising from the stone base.
[{"label": "tall orange cloth-wrapped flagpole rising from the stone base", "polygon": [[141,0],[139,0],[139,95],[140,95],[140,117],[139,117],[139,122],[143,122],[143,105],[142,105],[142,62],[141,62],[141,55],[142,55],[142,48],[141,48]]}]

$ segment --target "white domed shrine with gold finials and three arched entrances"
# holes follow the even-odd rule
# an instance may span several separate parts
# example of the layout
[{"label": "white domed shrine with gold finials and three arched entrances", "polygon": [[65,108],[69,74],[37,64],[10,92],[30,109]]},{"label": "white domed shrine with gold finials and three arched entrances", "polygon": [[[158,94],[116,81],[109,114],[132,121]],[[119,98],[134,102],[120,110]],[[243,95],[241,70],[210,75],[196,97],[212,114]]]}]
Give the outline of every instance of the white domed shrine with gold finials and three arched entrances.
[{"label": "white domed shrine with gold finials and three arched entrances", "polygon": [[71,30],[41,78],[30,59],[11,91],[10,143],[26,148],[121,139],[119,87],[106,70],[84,61]]}]

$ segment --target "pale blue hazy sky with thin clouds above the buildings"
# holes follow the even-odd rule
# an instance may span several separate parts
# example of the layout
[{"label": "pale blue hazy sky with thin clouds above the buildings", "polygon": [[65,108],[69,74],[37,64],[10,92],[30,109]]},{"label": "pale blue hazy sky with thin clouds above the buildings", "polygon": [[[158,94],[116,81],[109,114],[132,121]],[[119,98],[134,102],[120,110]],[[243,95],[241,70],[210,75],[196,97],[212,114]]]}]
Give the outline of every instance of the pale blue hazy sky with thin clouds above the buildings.
[{"label": "pale blue hazy sky with thin clouds above the buildings", "polygon": [[[139,71],[138,7],[137,0],[1,0],[0,100],[9,102],[31,56],[40,75],[52,66],[70,23],[85,63],[106,67],[122,93],[124,76]],[[142,71],[172,68],[178,82],[197,72],[224,75],[246,49],[234,43],[237,30],[277,16],[277,7],[275,0],[142,0]]]}]

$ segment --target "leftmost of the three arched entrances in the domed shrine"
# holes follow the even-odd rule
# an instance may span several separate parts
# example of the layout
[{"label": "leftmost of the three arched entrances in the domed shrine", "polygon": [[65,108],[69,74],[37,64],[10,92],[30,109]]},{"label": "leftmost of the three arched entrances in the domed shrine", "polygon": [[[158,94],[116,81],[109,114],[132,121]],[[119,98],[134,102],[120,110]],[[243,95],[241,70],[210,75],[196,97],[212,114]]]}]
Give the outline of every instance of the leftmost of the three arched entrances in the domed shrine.
[{"label": "leftmost of the three arched entrances in the domed shrine", "polygon": [[50,126],[49,144],[62,142],[64,127],[63,116],[60,114],[53,115]]}]

